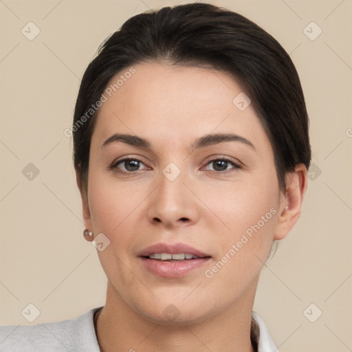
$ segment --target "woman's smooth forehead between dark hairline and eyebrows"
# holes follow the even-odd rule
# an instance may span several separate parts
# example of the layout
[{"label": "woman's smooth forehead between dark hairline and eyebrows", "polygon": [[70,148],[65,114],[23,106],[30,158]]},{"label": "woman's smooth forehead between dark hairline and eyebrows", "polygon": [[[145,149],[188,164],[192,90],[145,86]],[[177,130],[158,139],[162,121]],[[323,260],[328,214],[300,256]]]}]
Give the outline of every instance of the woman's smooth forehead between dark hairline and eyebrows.
[{"label": "woman's smooth forehead between dark hairline and eyebrows", "polygon": [[129,133],[175,145],[207,133],[237,133],[267,145],[252,105],[241,110],[234,103],[241,94],[243,89],[230,74],[214,69],[133,65],[107,85],[93,139]]}]

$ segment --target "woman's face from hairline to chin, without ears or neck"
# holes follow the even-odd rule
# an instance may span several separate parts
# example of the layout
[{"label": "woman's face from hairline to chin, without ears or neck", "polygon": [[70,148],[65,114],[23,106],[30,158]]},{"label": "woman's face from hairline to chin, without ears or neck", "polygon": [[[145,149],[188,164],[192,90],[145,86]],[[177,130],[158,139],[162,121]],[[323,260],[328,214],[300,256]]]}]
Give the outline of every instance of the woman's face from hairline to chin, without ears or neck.
[{"label": "woman's face from hairline to chin, without ears or neck", "polygon": [[124,77],[89,156],[85,221],[109,243],[98,251],[108,299],[159,323],[230,312],[253,299],[285,208],[270,141],[228,74],[134,69],[111,80]]}]

